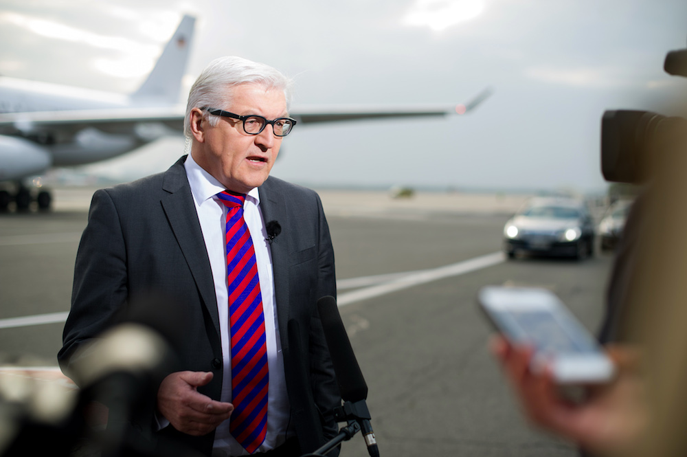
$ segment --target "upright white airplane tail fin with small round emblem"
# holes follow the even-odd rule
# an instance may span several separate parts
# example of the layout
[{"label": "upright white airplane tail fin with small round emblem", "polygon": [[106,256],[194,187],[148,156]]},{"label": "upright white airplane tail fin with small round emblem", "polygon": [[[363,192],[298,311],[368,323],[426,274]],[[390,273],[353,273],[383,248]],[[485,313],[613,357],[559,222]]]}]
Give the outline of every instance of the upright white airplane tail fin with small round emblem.
[{"label": "upright white airplane tail fin with small round emblem", "polygon": [[185,15],[168,41],[160,58],[150,71],[148,79],[131,94],[134,102],[150,100],[164,101],[172,104],[179,102],[181,78],[188,63],[190,47],[193,40],[193,30],[196,19]]}]

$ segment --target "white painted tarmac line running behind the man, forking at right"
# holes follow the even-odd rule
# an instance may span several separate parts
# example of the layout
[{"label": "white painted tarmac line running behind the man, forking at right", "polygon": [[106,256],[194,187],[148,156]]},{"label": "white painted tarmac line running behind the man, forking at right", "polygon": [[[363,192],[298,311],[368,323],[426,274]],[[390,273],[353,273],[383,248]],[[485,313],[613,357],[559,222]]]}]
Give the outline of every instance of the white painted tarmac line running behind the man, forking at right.
[{"label": "white painted tarmac line running behind the man, forking at right", "polygon": [[[464,260],[444,267],[339,280],[337,281],[337,287],[339,289],[369,287],[340,294],[337,298],[337,304],[339,306],[344,306],[361,300],[368,300],[370,298],[385,295],[386,293],[392,293],[401,289],[407,289],[408,287],[425,284],[425,282],[449,278],[450,276],[459,276],[478,269],[492,267],[493,265],[504,262],[504,260],[506,260],[506,256],[503,252],[494,252],[492,254],[486,254],[486,256],[471,258],[470,260]],[[0,328],[56,324],[65,322],[67,320],[67,315],[69,315],[69,313],[64,312],[0,319]]]}]

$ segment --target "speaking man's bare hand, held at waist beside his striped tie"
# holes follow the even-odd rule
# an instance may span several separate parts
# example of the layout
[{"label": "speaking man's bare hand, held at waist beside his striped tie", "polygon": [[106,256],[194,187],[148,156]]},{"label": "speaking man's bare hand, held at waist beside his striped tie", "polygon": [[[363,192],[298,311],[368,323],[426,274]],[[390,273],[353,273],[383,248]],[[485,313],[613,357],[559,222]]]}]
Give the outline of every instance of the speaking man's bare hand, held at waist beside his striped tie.
[{"label": "speaking man's bare hand, held at waist beside his striped tie", "polygon": [[212,381],[212,372],[179,371],[166,377],[157,390],[157,409],[175,429],[203,436],[229,419],[232,403],[214,401],[196,388]]}]

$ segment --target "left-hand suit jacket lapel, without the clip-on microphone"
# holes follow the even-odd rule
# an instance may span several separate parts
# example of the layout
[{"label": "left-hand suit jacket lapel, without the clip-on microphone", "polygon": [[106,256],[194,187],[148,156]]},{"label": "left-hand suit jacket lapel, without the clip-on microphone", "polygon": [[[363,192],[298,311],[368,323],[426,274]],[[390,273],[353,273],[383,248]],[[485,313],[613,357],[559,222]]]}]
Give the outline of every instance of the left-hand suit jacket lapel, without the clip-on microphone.
[{"label": "left-hand suit jacket lapel, without the clip-on microphone", "polygon": [[191,188],[186,178],[186,170],[183,167],[185,158],[186,156],[181,157],[165,173],[162,188],[168,194],[161,199],[161,203],[172,227],[172,232],[177,237],[177,243],[179,243],[181,252],[198,286],[203,304],[212,317],[217,335],[220,335],[212,269],[210,268],[210,259],[207,258],[203,232],[193,203]]}]

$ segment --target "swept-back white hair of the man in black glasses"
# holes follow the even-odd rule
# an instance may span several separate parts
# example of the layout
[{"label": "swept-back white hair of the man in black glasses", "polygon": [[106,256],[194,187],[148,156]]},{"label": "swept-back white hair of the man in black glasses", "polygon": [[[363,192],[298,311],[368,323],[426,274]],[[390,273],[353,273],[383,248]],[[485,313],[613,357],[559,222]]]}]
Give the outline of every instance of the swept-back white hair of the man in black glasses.
[{"label": "swept-back white hair of the man in black glasses", "polygon": [[[286,98],[286,109],[291,106],[291,86],[293,81],[278,69],[257,63],[245,58],[226,56],[216,58],[207,65],[201,75],[193,83],[188,93],[186,114],[183,120],[183,134],[191,137],[191,110],[194,108],[221,108],[220,103],[226,103],[227,97],[231,102],[231,91],[227,89],[241,84],[254,83],[265,89],[281,89]],[[205,111],[211,125],[216,125],[219,118]]]}]

